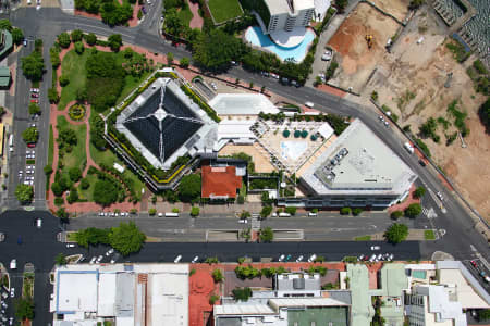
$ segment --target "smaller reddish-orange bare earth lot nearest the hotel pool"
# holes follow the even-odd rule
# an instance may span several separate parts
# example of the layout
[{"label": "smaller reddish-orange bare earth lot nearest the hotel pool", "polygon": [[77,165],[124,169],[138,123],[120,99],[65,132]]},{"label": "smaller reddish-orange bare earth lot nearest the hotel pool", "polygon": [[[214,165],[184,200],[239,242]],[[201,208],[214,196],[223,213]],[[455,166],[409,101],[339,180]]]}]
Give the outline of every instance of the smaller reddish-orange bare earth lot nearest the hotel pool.
[{"label": "smaller reddish-orange bare earth lot nearest the hotel pool", "polygon": [[[360,91],[372,70],[382,61],[384,46],[397,27],[394,20],[382,15],[369,4],[359,3],[328,43],[336,52],[339,62],[339,72],[329,83]],[[366,35],[373,37],[371,49],[368,49]]]}]

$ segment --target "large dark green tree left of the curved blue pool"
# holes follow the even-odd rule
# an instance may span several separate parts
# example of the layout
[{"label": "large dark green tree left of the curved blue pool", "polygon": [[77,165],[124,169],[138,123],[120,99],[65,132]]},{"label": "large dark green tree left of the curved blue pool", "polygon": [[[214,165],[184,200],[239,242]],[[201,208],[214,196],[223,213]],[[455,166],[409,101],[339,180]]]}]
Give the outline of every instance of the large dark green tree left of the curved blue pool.
[{"label": "large dark green tree left of the curved blue pool", "polygon": [[201,33],[194,45],[193,59],[210,71],[223,71],[232,60],[238,60],[246,50],[242,39],[225,34],[222,29]]}]

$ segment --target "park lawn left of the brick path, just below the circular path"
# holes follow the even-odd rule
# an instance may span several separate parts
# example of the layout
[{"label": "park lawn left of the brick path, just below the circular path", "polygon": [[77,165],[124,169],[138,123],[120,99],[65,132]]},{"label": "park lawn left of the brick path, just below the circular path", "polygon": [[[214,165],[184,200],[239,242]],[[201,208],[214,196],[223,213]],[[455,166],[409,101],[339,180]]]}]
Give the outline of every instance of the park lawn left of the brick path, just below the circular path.
[{"label": "park lawn left of the brick path, just below the circular path", "polygon": [[64,127],[73,129],[76,133],[76,138],[78,139],[76,146],[73,147],[72,152],[65,153],[63,158],[63,173],[68,175],[68,171],[71,167],[78,166],[83,171],[87,163],[87,154],[85,153],[85,137],[87,134],[87,126],[75,126],[70,124],[64,116],[58,116],[58,130]]}]

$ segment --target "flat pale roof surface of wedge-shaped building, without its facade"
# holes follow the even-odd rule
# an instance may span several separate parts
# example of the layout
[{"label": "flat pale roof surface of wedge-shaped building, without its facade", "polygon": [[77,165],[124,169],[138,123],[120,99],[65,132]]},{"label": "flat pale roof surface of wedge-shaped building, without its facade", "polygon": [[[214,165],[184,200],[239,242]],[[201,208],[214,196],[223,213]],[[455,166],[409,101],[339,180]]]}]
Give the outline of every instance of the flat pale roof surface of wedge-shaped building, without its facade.
[{"label": "flat pale roof surface of wedge-shaped building, without its facade", "polygon": [[403,193],[417,175],[355,120],[302,176],[318,195]]}]

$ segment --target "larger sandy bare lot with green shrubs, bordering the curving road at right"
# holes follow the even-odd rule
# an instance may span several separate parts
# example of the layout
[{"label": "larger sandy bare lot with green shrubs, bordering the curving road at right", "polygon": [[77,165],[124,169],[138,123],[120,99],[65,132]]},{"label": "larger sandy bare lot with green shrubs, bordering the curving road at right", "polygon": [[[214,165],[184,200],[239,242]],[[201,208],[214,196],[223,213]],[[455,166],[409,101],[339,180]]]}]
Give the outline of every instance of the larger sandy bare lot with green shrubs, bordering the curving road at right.
[{"label": "larger sandy bare lot with green shrubs, bordering the curving road at right", "polygon": [[[426,8],[405,28],[392,49],[384,53],[377,72],[363,90],[369,98],[372,90],[379,95],[379,103],[385,104],[399,115],[399,124],[411,125],[414,134],[429,117],[443,117],[451,123],[444,129],[438,124],[439,143],[424,139],[432,159],[448,173],[464,197],[490,221],[490,137],[485,134],[477,111],[485,97],[476,93],[466,68],[476,58],[458,64],[445,47],[446,29],[442,22]],[[417,40],[424,36],[424,41]],[[453,77],[444,87],[448,74]],[[466,126],[470,129],[462,148],[460,138],[446,146],[445,135],[456,131],[454,118],[448,114],[448,105],[458,100],[458,110],[467,113]]]}]

